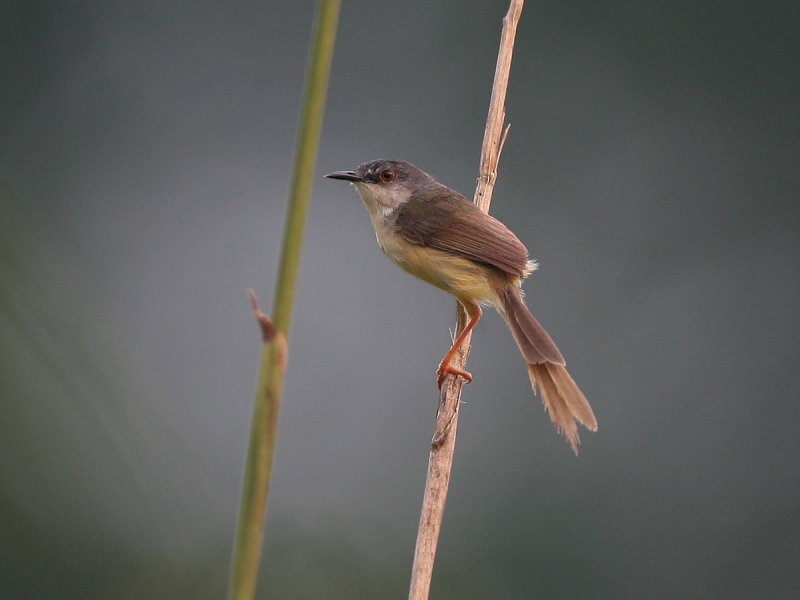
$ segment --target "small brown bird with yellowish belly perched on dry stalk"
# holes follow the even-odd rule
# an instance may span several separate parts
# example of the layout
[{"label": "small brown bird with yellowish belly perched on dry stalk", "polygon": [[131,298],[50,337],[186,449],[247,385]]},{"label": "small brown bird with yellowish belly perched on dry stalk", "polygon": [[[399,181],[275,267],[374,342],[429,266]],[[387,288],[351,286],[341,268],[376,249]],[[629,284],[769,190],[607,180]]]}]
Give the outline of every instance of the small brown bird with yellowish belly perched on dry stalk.
[{"label": "small brown bird with yellowish belly perched on dry stalk", "polygon": [[577,454],[576,421],[595,431],[597,419],[567,372],[561,352],[525,306],[522,280],[536,263],[528,259],[519,238],[464,196],[403,160],[373,160],[355,171],[325,177],[349,181],[356,188],[378,245],[389,258],[455,296],[469,316],[439,364],[439,388],[448,373],[472,381],[470,373],[451,361],[480,320],[480,305],[494,306],[522,352],[534,392],[538,387],[550,420]]}]

